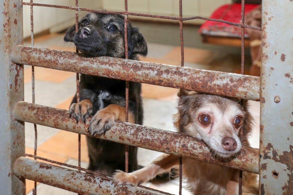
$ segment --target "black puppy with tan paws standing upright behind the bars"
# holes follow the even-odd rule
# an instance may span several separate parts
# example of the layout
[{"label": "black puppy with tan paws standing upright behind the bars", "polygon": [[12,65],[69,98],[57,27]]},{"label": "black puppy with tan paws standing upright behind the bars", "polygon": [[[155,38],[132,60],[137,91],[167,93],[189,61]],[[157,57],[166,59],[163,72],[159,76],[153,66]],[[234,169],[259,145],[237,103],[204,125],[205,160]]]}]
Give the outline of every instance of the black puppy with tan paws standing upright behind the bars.
[{"label": "black puppy with tan paws standing upright behind the bars", "polygon": [[[147,44],[137,28],[128,24],[128,57],[147,54]],[[64,41],[73,42],[88,57],[125,58],[124,17],[116,14],[89,13],[67,30]],[[70,106],[70,117],[78,122],[90,115],[90,135],[106,132],[115,120],[125,121],[125,81],[81,74],[80,102],[76,95]],[[142,124],[141,83],[129,82],[129,122]],[[87,136],[90,158],[88,169],[111,175],[125,170],[125,145]],[[136,170],[137,148],[129,147],[129,171]]]}]

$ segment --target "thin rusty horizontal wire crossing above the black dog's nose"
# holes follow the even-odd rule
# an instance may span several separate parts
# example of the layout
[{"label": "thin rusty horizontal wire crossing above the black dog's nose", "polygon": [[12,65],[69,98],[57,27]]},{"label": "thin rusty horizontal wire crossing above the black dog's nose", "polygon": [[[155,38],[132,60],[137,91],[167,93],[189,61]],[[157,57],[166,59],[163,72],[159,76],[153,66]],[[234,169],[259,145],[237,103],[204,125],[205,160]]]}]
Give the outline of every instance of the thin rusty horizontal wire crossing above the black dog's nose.
[{"label": "thin rusty horizontal wire crossing above the black dog's nose", "polygon": [[243,28],[250,28],[254,29],[257,31],[261,31],[262,28],[257,27],[257,26],[251,26],[251,25],[245,25],[245,24],[239,24],[239,23],[234,23],[234,22],[229,22],[226,20],[221,20],[221,19],[212,19],[212,18],[206,18],[202,16],[193,16],[193,17],[173,17],[173,16],[159,16],[159,15],[152,15],[152,14],[142,14],[142,13],[134,13],[134,12],[128,12],[128,11],[102,11],[102,10],[92,10],[92,9],[87,9],[87,8],[82,8],[82,7],[72,7],[72,6],[64,6],[64,5],[52,5],[52,4],[41,4],[41,3],[28,3],[28,2],[23,2],[23,5],[34,5],[34,6],[43,6],[43,7],[56,7],[56,8],[62,8],[62,9],[69,9],[69,10],[78,10],[78,11],[89,11],[89,12],[96,12],[96,13],[109,13],[109,14],[123,14],[123,15],[129,15],[129,16],[143,16],[143,17],[150,17],[150,18],[161,18],[161,19],[170,19],[170,20],[193,20],[193,19],[203,19],[203,20],[209,20],[209,21],[215,21],[215,22],[223,22],[229,25],[233,26],[239,26]]}]

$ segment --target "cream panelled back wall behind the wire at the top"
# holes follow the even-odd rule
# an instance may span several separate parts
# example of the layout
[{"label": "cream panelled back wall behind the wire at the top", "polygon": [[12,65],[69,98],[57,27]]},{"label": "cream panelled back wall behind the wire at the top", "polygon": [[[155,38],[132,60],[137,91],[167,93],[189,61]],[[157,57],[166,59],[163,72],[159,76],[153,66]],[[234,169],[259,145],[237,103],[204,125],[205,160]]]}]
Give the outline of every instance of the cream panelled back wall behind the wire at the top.
[{"label": "cream panelled back wall behind the wire at the top", "polygon": [[[29,0],[24,0],[24,2],[29,2]],[[75,1],[73,0],[34,0],[34,3],[75,6]],[[182,0],[183,17],[208,17],[217,7],[227,3],[231,3],[231,0]],[[80,0],[79,7],[106,9],[108,11],[124,11],[124,0]],[[48,29],[51,32],[61,31],[75,23],[75,10],[40,6],[34,6],[33,9],[34,33],[40,33]],[[179,1],[128,0],[128,11],[164,16],[179,16]],[[85,14],[85,12],[79,12],[79,16],[81,17]],[[142,17],[139,18],[143,19]],[[188,22],[202,23],[204,21],[192,20]],[[30,6],[24,5],[23,35],[24,37],[29,37],[30,34]]]}]

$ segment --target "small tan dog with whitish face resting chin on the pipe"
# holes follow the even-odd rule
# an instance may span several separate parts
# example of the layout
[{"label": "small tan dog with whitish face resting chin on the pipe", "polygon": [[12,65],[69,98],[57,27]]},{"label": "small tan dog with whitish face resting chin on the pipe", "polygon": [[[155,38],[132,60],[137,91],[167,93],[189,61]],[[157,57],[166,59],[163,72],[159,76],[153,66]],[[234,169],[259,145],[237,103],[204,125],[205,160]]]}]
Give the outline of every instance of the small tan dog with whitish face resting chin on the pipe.
[{"label": "small tan dog with whitish face resting chin on the pipe", "polygon": [[[247,137],[253,118],[246,101],[242,107],[235,98],[182,90],[178,109],[175,126],[179,132],[203,140],[216,158],[228,161],[240,153],[242,145],[249,145]],[[243,138],[240,138],[241,128]],[[179,156],[163,154],[132,173],[117,171],[113,182],[139,185],[174,167],[179,168]],[[238,194],[239,171],[236,169],[182,158],[182,172],[193,194]],[[258,194],[256,174],[243,172],[242,191],[246,195]]]}]

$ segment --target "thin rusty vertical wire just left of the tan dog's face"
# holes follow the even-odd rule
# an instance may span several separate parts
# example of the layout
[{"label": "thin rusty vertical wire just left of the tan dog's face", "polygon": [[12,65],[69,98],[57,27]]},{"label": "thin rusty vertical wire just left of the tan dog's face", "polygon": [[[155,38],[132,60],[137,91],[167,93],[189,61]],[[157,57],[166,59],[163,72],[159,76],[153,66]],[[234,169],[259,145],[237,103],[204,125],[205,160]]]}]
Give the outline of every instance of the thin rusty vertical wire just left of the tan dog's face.
[{"label": "thin rusty vertical wire just left of the tan dog's face", "polygon": [[[179,30],[181,47],[181,66],[184,66],[184,45],[183,45],[183,21],[182,21],[182,0],[179,0]],[[179,195],[182,195],[182,156],[179,158]]]}]

